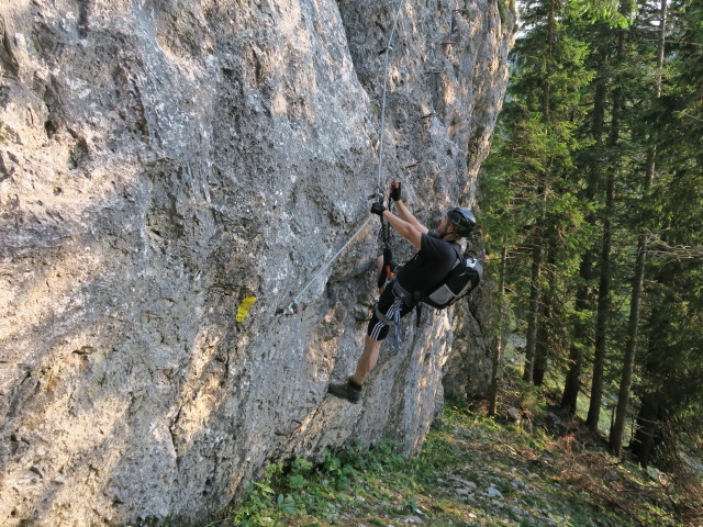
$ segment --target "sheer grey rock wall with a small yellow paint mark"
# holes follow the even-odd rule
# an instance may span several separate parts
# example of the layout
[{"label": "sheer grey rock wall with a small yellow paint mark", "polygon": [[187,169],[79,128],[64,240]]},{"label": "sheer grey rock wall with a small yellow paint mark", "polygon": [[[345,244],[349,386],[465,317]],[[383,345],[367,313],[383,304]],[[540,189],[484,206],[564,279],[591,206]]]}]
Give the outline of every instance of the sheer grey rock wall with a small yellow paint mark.
[{"label": "sheer grey rock wall with a small yellow paint mark", "polygon": [[369,195],[471,204],[513,20],[386,3],[0,4],[3,526],[203,525],[271,459],[419,448],[450,312],[408,317],[362,405],[326,386],[376,294]]}]

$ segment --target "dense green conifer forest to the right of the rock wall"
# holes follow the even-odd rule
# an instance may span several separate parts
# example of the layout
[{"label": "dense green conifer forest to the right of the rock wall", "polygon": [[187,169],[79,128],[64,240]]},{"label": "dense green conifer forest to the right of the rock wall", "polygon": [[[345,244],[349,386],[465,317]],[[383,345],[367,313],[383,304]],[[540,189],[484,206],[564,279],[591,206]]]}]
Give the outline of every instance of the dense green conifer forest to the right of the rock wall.
[{"label": "dense green conifer forest to the right of the rock wall", "polygon": [[703,442],[703,3],[518,12],[480,179],[491,411],[518,334],[525,383],[616,457],[687,470]]}]

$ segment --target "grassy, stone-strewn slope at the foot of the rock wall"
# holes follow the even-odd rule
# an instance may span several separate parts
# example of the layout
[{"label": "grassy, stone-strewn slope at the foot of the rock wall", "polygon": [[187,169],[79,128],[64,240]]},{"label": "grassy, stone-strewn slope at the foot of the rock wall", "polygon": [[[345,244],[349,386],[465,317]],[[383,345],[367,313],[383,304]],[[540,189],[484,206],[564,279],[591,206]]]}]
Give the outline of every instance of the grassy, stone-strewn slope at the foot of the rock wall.
[{"label": "grassy, stone-strewn slope at the foot of the rock wall", "polygon": [[447,405],[417,456],[383,441],[272,464],[243,506],[211,525],[699,525],[677,517],[680,498],[660,473],[617,462],[580,422],[558,434],[547,419],[522,425]]}]

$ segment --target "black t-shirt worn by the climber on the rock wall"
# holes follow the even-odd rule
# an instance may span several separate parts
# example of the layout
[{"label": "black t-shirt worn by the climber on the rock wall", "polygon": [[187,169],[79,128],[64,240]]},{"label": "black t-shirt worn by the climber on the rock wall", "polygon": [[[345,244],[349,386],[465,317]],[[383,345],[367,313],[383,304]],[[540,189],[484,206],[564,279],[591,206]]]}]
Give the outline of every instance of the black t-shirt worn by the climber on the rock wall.
[{"label": "black t-shirt worn by the climber on the rock wall", "polygon": [[398,271],[398,283],[405,291],[428,291],[444,279],[457,261],[456,244],[439,233],[422,235],[420,251]]}]

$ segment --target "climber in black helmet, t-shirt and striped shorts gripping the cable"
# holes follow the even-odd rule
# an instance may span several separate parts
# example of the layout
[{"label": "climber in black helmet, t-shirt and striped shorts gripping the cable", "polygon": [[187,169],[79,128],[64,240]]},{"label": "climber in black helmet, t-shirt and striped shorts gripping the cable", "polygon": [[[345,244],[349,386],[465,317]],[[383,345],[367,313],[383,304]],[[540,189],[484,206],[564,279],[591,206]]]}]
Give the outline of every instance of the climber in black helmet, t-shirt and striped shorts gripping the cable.
[{"label": "climber in black helmet, t-shirt and striped shorts gripping the cable", "polygon": [[[328,391],[332,395],[355,404],[361,401],[364,380],[376,366],[381,343],[388,335],[389,327],[398,325],[400,317],[415,307],[422,292],[432,289],[449,273],[457,259],[455,244],[468,236],[476,226],[476,217],[471,211],[455,208],[447,212],[437,232],[429,232],[403,203],[399,181],[391,182],[390,195],[398,215],[378,202],[371,205],[371,212],[386,220],[420,250],[405,265],[393,264],[394,269],[391,270],[397,271],[397,274],[386,287],[382,283],[384,277],[379,279],[381,294],[368,325],[364,351],[356,371],[345,382],[330,384]],[[381,258],[378,260],[379,273],[384,274],[387,269],[381,265]]]}]

